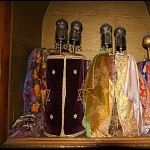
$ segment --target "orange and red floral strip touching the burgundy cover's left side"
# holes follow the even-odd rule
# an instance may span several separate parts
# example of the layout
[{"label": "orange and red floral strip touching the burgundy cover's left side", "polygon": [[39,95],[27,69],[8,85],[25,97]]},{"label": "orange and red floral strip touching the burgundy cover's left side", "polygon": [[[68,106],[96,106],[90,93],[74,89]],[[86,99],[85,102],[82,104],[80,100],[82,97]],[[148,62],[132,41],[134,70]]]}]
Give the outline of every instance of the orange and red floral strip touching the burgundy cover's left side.
[{"label": "orange and red floral strip touching the burgundy cover's left side", "polygon": [[33,88],[36,102],[32,105],[32,112],[44,111],[44,102],[46,98],[46,61],[46,50],[38,50],[33,70]]}]

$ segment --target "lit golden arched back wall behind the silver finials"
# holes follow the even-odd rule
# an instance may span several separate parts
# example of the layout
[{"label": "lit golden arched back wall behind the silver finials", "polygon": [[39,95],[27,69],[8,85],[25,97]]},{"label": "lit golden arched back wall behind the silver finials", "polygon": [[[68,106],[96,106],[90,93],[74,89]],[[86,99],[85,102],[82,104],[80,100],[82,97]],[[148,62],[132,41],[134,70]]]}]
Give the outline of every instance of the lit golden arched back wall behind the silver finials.
[{"label": "lit golden arched back wall behind the silver finials", "polygon": [[[43,21],[42,47],[54,47],[56,20],[64,18],[68,21],[68,33],[71,22],[79,20],[83,25],[80,53],[92,59],[100,50],[99,29],[109,23],[113,31],[117,26],[126,29],[127,51],[137,61],[142,61],[144,56],[147,57],[142,39],[145,34],[150,34],[149,8],[144,1],[51,1]],[[114,32],[112,35],[114,47]]]}]

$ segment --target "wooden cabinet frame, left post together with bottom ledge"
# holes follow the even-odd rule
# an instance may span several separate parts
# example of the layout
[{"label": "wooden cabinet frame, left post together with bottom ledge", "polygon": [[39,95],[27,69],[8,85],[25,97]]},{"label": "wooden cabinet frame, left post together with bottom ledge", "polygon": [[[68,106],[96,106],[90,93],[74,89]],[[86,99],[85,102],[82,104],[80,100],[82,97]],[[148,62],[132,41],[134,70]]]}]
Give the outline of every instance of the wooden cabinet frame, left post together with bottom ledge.
[{"label": "wooden cabinet frame, left post together with bottom ledge", "polygon": [[150,147],[150,137],[139,138],[9,138],[12,1],[0,1],[0,147]]}]

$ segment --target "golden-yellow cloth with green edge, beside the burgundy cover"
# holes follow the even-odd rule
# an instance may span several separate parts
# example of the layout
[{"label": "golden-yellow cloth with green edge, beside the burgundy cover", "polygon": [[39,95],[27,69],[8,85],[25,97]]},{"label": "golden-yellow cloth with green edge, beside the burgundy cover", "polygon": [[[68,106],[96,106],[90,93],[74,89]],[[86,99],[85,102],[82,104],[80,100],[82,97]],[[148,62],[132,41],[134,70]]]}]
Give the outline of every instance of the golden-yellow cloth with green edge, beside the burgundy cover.
[{"label": "golden-yellow cloth with green edge, beside the burgundy cover", "polygon": [[[109,53],[97,55],[89,68],[84,86],[83,125],[90,137],[108,135],[109,126]],[[91,135],[90,135],[91,134]]]}]

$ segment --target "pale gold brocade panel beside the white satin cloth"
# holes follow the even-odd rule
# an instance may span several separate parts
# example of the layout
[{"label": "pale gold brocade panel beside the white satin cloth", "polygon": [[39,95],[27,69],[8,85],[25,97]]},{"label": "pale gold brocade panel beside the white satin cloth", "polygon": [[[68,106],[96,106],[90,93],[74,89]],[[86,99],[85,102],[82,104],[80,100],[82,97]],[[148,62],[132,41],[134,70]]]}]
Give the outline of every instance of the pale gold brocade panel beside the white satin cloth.
[{"label": "pale gold brocade panel beside the white satin cloth", "polygon": [[115,66],[118,74],[118,79],[115,84],[115,97],[117,103],[118,117],[123,130],[123,136],[133,137],[138,135],[137,123],[134,115],[134,104],[123,93],[128,62],[128,55],[116,55]]}]

